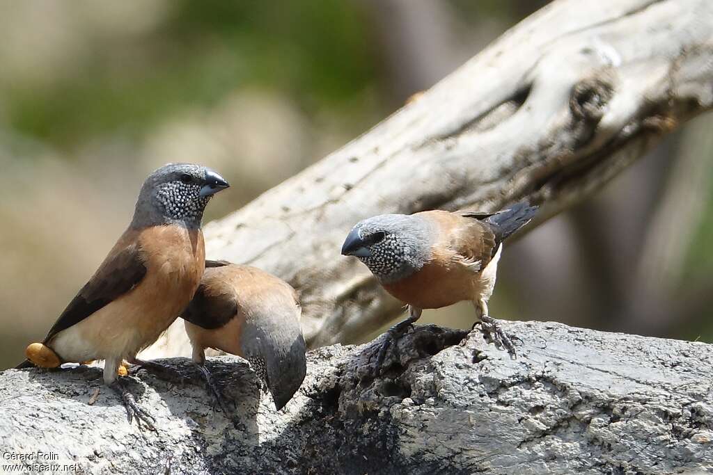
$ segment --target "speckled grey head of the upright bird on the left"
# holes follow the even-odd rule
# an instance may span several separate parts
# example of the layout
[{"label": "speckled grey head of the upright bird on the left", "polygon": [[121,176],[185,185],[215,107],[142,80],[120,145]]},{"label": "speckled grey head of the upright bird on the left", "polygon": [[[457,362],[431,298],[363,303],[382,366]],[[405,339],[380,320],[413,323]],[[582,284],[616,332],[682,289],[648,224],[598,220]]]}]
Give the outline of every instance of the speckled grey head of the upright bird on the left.
[{"label": "speckled grey head of the upright bird on the left", "polygon": [[132,226],[182,224],[198,228],[210,197],[229,186],[223,177],[201,165],[164,165],[143,182]]}]

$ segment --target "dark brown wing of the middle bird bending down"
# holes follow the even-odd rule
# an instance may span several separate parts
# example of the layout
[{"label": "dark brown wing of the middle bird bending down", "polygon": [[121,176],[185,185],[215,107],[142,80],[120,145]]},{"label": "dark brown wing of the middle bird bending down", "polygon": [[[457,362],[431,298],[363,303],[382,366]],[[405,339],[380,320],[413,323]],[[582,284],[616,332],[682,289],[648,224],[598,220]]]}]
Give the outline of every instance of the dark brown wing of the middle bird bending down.
[{"label": "dark brown wing of the middle bird bending down", "polygon": [[[209,262],[211,265],[209,265]],[[227,264],[212,265],[215,263],[220,263],[220,261],[205,261],[207,269],[203,274],[200,286],[195,291],[193,300],[190,301],[188,307],[183,311],[183,315],[181,315],[183,320],[187,320],[206,330],[220,328],[237,315],[235,292],[230,287],[230,284],[221,280],[221,272],[208,270]]]}]

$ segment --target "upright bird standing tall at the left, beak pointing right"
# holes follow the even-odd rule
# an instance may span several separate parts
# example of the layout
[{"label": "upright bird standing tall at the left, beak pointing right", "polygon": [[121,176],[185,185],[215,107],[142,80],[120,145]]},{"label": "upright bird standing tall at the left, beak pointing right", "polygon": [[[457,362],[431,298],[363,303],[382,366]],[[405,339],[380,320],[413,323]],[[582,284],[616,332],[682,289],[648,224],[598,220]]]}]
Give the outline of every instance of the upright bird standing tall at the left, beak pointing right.
[{"label": "upright bird standing tall at the left, beak pointing right", "polygon": [[89,281],[59,315],[42,343],[26,350],[41,367],[104,360],[103,380],[118,392],[129,423],[135,417],[153,428],[118,377],[123,360],[155,370],[162,365],[136,359],[188,306],[205,269],[200,229],[213,194],[229,187],[201,165],[170,163],[145,179],[133,219]]}]

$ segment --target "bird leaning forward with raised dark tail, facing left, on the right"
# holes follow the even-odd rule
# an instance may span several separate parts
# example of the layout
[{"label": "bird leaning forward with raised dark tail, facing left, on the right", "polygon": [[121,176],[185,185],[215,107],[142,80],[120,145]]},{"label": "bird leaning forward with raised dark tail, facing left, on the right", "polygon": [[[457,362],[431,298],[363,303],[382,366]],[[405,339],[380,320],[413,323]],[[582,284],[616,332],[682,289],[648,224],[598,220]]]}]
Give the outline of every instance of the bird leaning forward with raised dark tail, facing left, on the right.
[{"label": "bird leaning forward with raised dark tail, facing left, on the right", "polygon": [[[511,355],[515,348],[488,312],[503,241],[525,226],[538,207],[518,202],[498,212],[381,214],[359,221],[347,235],[342,255],[355,256],[381,286],[408,306],[409,317],[386,333],[376,367],[386,349],[425,308],[471,301],[483,332]],[[473,327],[476,325],[474,324]]]}]

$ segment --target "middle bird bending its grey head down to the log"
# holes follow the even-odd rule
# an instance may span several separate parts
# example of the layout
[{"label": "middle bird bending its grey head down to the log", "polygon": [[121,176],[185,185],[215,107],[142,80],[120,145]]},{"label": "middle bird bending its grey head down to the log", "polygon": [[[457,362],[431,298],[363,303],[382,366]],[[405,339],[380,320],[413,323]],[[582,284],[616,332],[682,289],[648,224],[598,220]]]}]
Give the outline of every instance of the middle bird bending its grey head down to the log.
[{"label": "middle bird bending its grey head down to the log", "polygon": [[252,266],[206,261],[198,291],[181,314],[193,347],[193,362],[221,404],[220,391],[205,367],[214,348],[250,362],[279,411],[302,385],[307,346],[297,292],[287,282]]}]

